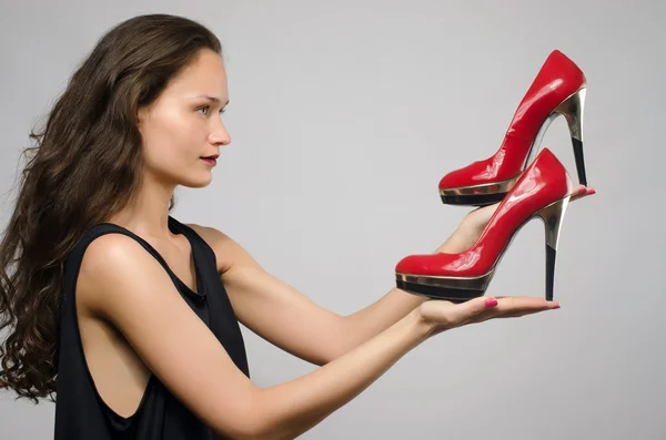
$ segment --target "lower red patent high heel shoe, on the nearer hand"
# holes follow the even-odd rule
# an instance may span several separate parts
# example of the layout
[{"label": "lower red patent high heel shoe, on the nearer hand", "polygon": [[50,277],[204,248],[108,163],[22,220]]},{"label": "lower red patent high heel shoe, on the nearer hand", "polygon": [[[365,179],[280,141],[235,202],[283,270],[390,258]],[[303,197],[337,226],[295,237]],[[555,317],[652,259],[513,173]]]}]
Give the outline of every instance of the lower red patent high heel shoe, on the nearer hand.
[{"label": "lower red patent high heel shoe, on the nearer hand", "polygon": [[562,163],[543,149],[500,203],[485,229],[460,254],[411,255],[395,267],[400,289],[463,303],[483,296],[514,235],[535,216],[544,221],[546,299],[553,299],[557,241],[572,182]]}]

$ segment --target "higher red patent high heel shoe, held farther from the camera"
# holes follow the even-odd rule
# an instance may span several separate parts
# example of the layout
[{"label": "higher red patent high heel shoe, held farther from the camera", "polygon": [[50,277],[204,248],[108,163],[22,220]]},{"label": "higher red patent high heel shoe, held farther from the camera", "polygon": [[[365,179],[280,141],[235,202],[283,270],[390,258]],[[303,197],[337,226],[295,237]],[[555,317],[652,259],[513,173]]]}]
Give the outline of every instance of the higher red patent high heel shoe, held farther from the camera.
[{"label": "higher red patent high heel shoe, held farther from the camera", "polygon": [[491,157],[446,174],[442,202],[484,206],[500,202],[537,153],[548,126],[563,115],[568,124],[578,181],[587,186],[583,157],[583,108],[587,80],[562,52],[553,51],[521,101],[500,149]]}]

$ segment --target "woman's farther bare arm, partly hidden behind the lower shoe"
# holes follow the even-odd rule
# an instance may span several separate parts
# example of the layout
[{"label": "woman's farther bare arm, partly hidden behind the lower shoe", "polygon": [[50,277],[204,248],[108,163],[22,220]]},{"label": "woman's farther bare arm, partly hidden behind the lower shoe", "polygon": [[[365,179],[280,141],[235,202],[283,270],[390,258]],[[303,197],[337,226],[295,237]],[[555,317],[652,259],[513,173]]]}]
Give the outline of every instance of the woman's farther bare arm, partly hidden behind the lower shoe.
[{"label": "woman's farther bare arm, partly hidden behind the lower shoe", "polygon": [[[319,366],[370,340],[425,300],[393,288],[362,310],[341,316],[266,273],[241,245],[222,232],[189,226],[215,252],[219,272],[238,319],[276,347]],[[461,252],[468,247],[468,237],[464,229],[458,229],[437,252]]]}]

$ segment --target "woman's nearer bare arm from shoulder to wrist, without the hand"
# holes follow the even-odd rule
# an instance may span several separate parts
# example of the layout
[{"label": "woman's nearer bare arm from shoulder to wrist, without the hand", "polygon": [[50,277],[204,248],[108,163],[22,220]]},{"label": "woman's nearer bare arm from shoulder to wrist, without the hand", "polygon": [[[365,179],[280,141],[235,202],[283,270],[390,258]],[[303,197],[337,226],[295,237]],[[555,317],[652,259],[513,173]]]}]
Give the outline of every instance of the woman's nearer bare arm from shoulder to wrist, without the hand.
[{"label": "woman's nearer bare arm from shoulder to wrist, without the hand", "polygon": [[110,234],[87,249],[82,270],[99,289],[81,298],[117,327],[148,368],[216,432],[293,439],[352,400],[432,331],[415,313],[299,379],[259,388],[137,242]]}]

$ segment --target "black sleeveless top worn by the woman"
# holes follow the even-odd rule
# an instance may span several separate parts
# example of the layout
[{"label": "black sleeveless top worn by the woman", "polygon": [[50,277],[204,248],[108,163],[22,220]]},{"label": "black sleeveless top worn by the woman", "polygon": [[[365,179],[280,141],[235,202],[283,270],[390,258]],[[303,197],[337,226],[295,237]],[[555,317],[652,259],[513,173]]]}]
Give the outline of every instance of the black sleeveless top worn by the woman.
[{"label": "black sleeveless top worn by the woman", "polygon": [[213,249],[192,228],[171,216],[169,229],[174,234],[183,234],[190,242],[196,270],[196,291],[178,278],[148,242],[119,225],[95,225],[70,250],[64,268],[64,291],[60,313],[56,440],[222,439],[185,408],[154,375],[148,381],[137,412],[129,418],[118,415],[98,393],[83,356],[74,301],[81,259],[87,246],[94,238],[118,233],[138,241],[160,262],[183,299],[215,335],[236,367],[250,377],[243,337],[220,279]]}]

